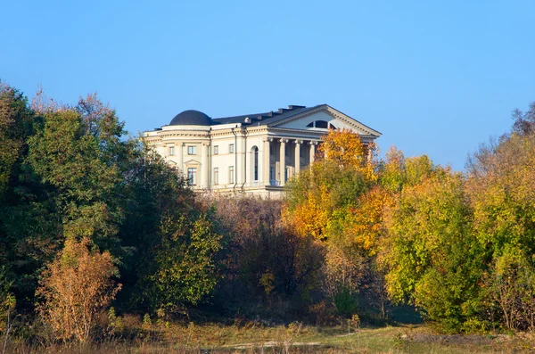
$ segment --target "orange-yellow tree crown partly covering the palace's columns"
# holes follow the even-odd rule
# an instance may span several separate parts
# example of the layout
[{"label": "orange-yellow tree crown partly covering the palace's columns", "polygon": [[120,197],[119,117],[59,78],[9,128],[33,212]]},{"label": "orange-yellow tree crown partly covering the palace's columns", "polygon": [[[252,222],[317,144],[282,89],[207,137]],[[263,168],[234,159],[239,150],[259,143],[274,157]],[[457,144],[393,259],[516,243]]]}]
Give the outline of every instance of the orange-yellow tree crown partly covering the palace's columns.
[{"label": "orange-yellow tree crown partly covering the palace's columns", "polygon": [[288,183],[284,220],[297,235],[324,239],[336,210],[355,206],[374,184],[374,145],[348,129],[331,130],[309,169]]}]

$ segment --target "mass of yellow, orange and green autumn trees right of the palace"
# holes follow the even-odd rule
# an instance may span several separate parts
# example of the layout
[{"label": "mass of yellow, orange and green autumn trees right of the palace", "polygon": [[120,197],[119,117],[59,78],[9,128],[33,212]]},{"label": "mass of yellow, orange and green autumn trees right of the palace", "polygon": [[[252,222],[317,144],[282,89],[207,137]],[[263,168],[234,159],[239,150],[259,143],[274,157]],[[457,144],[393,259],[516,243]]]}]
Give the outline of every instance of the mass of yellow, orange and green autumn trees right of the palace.
[{"label": "mass of yellow, orange and green autumn trees right of the palace", "polygon": [[355,135],[329,132],[289,184],[284,220],[325,244],[333,306],[374,292],[446,331],[533,328],[534,108],[515,111],[513,131],[482,145],[465,174],[396,148],[370,161]]}]

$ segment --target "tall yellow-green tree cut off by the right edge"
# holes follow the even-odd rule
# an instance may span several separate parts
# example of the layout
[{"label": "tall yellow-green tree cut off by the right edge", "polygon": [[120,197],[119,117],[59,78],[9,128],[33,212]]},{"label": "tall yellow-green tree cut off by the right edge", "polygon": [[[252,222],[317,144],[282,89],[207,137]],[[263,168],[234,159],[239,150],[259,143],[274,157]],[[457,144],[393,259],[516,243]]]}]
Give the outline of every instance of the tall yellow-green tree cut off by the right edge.
[{"label": "tall yellow-green tree cut off by the right edge", "polygon": [[467,163],[473,232],[486,260],[482,301],[490,320],[509,329],[533,327],[534,108],[515,110],[512,132],[481,145]]}]

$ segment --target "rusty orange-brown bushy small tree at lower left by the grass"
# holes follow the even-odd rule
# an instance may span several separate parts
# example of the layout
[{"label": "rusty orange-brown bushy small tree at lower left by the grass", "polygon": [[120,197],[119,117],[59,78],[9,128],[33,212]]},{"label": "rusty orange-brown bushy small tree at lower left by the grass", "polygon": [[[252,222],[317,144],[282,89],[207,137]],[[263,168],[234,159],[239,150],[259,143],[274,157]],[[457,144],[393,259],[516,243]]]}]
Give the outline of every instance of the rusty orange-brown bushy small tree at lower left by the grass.
[{"label": "rusty orange-brown bushy small tree at lower left by the grass", "polygon": [[93,247],[87,237],[67,240],[37,289],[39,313],[64,342],[89,340],[97,315],[120,289],[112,280],[118,272],[110,252],[90,250]]}]

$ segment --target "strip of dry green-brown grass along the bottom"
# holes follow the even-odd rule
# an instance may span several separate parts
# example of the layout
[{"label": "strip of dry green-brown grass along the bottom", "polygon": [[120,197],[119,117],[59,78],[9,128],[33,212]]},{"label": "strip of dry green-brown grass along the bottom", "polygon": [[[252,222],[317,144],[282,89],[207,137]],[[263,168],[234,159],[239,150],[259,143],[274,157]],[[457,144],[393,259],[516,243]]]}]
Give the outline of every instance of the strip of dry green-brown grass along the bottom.
[{"label": "strip of dry green-brown grass along the bottom", "polygon": [[[141,333],[141,332],[140,332]],[[152,325],[132,340],[101,343],[29,345],[10,342],[8,353],[519,353],[535,351],[530,333],[440,335],[425,325],[315,327],[293,323],[267,326],[189,324]]]}]

